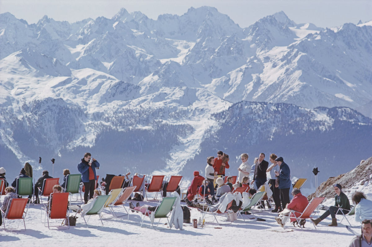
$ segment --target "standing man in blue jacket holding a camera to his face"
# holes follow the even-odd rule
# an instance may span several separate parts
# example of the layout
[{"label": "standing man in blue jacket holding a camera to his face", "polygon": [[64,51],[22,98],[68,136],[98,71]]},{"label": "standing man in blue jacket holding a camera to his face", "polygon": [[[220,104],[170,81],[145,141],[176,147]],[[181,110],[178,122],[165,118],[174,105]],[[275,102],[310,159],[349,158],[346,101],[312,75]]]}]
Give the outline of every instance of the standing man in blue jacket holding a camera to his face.
[{"label": "standing man in blue jacket holding a camera to his face", "polygon": [[84,204],[88,202],[88,195],[89,199],[93,198],[94,184],[97,180],[96,168],[99,167],[98,161],[91,157],[92,155],[90,153],[85,153],[83,159],[81,159],[81,162],[77,165],[77,169],[81,173],[81,180],[85,186]]}]

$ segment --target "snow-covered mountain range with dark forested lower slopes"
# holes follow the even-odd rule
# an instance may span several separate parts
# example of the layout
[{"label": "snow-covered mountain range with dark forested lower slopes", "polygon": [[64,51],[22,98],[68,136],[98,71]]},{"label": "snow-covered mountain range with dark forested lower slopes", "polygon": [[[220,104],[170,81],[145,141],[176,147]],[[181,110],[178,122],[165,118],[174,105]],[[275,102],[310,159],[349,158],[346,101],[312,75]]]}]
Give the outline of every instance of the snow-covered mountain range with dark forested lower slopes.
[{"label": "snow-covered mountain range with dark forested lower slopes", "polygon": [[371,156],[371,22],[323,29],[279,12],[241,28],[200,7],[29,25],[3,13],[0,44],[10,177],[39,156],[41,169],[56,159],[55,176],[77,172],[87,151],[101,176],[190,177],[224,150],[231,175],[240,153],[252,162],[265,152],[285,157],[293,176],[319,166],[323,180]]}]

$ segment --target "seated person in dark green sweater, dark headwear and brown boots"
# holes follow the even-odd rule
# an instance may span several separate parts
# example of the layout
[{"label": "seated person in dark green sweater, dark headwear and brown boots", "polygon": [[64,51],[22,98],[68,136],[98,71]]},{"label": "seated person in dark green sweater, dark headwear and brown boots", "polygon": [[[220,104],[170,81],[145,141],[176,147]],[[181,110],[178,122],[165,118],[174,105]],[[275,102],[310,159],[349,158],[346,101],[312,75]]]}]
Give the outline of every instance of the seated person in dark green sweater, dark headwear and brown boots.
[{"label": "seated person in dark green sweater, dark headwear and brown boots", "polygon": [[[332,223],[328,224],[330,227],[337,227],[337,219],[336,219],[336,212],[340,208],[344,214],[347,214],[350,211],[350,202],[349,198],[341,192],[341,185],[338,183],[335,183],[333,185],[334,192],[336,192],[336,196],[334,196],[335,204],[334,206],[329,207],[327,211],[324,212],[319,218],[316,218],[315,220],[310,219],[315,225],[319,224],[320,221],[327,218],[328,215],[331,215]],[[338,211],[337,214],[342,214],[341,211]]]}]

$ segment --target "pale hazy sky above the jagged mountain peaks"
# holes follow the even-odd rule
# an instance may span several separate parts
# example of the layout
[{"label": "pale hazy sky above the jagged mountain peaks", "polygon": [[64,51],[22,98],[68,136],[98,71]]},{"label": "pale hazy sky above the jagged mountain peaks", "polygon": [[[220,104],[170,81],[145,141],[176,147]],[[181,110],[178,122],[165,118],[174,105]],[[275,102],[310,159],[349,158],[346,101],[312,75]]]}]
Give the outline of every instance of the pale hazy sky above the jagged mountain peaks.
[{"label": "pale hazy sky above the jagged mountain peaks", "polygon": [[190,7],[200,6],[216,7],[240,27],[281,10],[296,23],[311,22],[320,27],[372,20],[372,0],[0,0],[0,13],[10,12],[31,24],[44,15],[68,22],[111,18],[121,7],[157,19],[159,14],[182,15]]}]

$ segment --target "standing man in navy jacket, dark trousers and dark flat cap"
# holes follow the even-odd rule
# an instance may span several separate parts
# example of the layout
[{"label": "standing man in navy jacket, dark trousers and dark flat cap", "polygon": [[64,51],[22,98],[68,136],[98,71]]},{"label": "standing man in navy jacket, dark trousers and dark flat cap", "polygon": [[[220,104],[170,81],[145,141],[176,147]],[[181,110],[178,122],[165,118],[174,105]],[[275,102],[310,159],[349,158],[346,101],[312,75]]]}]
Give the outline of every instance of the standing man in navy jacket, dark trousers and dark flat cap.
[{"label": "standing man in navy jacket, dark trousers and dark flat cap", "polygon": [[279,166],[279,172],[275,171],[275,176],[279,178],[279,191],[280,191],[280,202],[282,202],[282,209],[285,208],[289,199],[289,189],[291,188],[291,170],[289,166],[284,163],[283,157],[275,159]]}]

